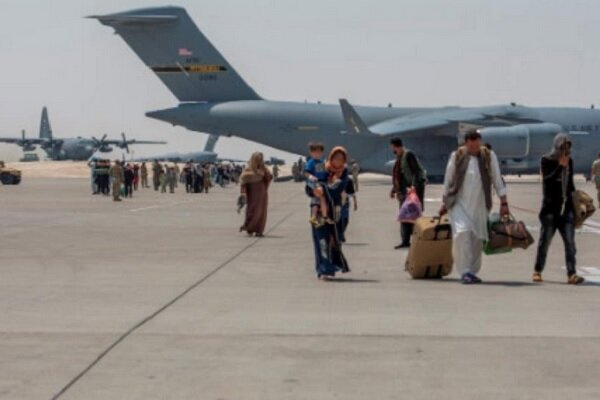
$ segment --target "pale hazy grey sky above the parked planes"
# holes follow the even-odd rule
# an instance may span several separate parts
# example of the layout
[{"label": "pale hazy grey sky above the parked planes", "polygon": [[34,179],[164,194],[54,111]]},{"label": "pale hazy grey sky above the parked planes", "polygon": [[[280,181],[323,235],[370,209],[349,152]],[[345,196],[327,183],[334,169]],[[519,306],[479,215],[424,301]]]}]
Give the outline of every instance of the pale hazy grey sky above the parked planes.
[{"label": "pale hazy grey sky above the parked planes", "polygon": [[[218,0],[186,7],[263,97],[354,104],[600,103],[598,0]],[[37,136],[47,105],[57,137],[121,131],[164,139],[137,154],[191,151],[206,135],[146,118],[176,99],[90,14],[169,4],[0,0],[0,135]],[[222,156],[256,149],[223,139]],[[0,145],[0,157],[20,150]]]}]

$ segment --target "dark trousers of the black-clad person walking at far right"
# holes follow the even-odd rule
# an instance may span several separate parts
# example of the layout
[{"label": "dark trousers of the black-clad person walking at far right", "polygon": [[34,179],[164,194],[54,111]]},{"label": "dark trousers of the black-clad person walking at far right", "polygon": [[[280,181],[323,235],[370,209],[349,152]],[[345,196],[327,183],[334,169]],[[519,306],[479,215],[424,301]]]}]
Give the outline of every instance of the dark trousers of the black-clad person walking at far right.
[{"label": "dark trousers of the black-clad person walking at far right", "polygon": [[565,259],[567,262],[567,274],[575,275],[575,214],[568,211],[564,216],[554,214],[540,215],[542,229],[540,231],[540,241],[538,243],[538,253],[535,261],[535,270],[542,272],[546,266],[548,249],[552,243],[552,238],[556,231],[562,236],[565,245]]}]

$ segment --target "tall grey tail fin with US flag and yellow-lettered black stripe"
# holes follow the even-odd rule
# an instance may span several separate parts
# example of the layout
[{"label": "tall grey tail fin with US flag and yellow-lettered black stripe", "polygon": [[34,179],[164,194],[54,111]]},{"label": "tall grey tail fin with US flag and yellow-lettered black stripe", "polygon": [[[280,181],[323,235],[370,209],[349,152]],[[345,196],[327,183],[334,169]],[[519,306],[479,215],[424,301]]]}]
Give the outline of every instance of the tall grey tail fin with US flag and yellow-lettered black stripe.
[{"label": "tall grey tail fin with US flag and yellow-lettered black stripe", "polygon": [[90,16],[111,26],[181,102],[259,100],[185,9]]}]

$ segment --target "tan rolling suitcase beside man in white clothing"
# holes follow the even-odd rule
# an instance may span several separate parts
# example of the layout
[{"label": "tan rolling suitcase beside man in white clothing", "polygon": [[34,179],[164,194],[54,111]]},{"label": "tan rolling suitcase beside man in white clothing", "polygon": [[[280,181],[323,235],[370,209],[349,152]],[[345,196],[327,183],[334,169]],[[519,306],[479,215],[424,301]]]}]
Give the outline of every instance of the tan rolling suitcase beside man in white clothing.
[{"label": "tan rolling suitcase beside man in white clothing", "polygon": [[405,268],[413,279],[440,279],[452,272],[452,228],[448,217],[415,222]]}]

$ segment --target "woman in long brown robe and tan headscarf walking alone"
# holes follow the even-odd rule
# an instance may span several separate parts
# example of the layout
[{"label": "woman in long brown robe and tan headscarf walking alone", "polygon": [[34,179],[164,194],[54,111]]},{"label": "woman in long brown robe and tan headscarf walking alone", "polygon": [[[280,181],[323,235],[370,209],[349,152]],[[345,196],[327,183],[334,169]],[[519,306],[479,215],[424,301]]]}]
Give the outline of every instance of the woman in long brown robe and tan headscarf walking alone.
[{"label": "woman in long brown robe and tan headscarf walking alone", "polygon": [[273,180],[262,153],[252,154],[240,179],[240,195],[246,198],[246,218],[240,232],[246,231],[249,236],[261,237],[267,223],[268,190]]}]

